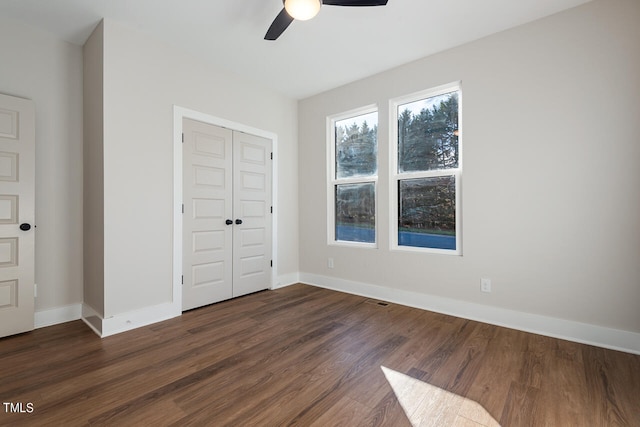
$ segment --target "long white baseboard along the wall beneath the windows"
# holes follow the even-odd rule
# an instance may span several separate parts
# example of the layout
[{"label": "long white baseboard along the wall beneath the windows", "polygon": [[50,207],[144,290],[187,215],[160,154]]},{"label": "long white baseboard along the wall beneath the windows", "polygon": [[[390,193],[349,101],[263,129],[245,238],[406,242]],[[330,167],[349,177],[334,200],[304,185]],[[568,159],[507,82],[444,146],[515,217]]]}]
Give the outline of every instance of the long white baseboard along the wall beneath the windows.
[{"label": "long white baseboard along the wall beneath the windows", "polygon": [[510,329],[640,354],[640,333],[316,274],[300,273],[300,282]]}]

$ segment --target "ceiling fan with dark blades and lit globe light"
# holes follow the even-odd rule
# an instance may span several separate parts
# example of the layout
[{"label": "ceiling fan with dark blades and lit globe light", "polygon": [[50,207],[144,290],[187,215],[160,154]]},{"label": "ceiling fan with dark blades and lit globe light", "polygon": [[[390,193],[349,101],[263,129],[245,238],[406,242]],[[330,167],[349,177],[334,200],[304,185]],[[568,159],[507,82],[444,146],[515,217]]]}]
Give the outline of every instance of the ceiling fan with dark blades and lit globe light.
[{"label": "ceiling fan with dark blades and lit globe light", "polygon": [[388,0],[283,0],[284,8],[264,36],[265,40],[275,40],[287,29],[294,19],[306,21],[320,11],[323,4],[329,6],[384,6]]}]

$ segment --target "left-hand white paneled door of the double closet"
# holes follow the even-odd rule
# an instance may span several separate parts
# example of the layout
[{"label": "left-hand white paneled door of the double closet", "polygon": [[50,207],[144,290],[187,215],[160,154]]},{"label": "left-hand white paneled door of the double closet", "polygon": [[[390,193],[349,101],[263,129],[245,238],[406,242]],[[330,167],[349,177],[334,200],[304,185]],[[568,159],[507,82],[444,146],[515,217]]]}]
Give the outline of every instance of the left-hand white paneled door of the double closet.
[{"label": "left-hand white paneled door of the double closet", "polygon": [[182,308],[233,296],[232,131],[184,119]]}]

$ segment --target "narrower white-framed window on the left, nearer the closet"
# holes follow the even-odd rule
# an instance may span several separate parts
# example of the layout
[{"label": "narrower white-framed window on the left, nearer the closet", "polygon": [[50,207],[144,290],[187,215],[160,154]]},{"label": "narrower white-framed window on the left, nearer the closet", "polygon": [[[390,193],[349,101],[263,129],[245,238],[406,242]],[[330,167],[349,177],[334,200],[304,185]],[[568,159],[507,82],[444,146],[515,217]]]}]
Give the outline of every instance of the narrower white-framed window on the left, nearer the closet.
[{"label": "narrower white-framed window on the left, nearer the closet", "polygon": [[375,246],[378,112],[362,109],[329,123],[329,242]]}]

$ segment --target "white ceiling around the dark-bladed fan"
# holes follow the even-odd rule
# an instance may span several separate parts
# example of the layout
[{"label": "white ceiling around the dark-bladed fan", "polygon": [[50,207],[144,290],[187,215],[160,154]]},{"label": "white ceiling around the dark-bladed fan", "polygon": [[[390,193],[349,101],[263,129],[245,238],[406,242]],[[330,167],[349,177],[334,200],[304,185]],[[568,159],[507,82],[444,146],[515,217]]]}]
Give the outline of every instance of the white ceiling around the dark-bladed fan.
[{"label": "white ceiling around the dark-bladed fan", "polygon": [[281,0],[0,0],[0,16],[82,45],[101,18],[293,98],[361,79],[590,0],[389,0],[324,6],[263,40]]}]

